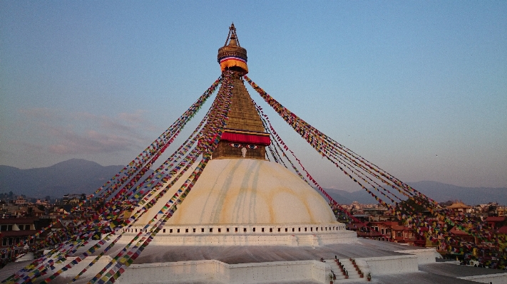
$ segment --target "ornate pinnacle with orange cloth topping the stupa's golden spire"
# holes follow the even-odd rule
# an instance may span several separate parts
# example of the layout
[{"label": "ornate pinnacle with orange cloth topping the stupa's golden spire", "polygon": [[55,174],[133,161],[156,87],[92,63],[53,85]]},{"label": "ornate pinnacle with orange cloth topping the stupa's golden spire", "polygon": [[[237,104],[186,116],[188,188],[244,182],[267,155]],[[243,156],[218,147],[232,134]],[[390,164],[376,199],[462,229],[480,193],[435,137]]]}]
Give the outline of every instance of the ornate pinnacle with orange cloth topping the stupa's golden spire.
[{"label": "ornate pinnacle with orange cloth topping the stupa's golden spire", "polygon": [[[228,45],[227,42],[229,43]],[[229,28],[225,45],[218,48],[217,58],[222,72],[228,69],[240,71],[243,75],[248,73],[247,50],[240,46],[234,23]]]}]

